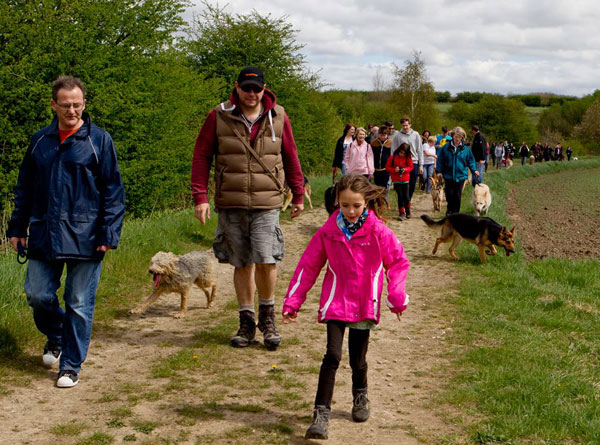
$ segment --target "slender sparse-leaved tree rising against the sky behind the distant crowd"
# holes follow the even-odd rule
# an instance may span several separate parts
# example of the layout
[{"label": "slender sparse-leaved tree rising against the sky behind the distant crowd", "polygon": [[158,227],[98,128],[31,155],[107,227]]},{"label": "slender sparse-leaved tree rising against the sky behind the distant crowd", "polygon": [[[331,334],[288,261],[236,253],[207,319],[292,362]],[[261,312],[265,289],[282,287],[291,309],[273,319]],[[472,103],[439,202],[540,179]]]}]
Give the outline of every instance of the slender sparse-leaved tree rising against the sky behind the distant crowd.
[{"label": "slender sparse-leaved tree rising against the sky behind the distant crowd", "polygon": [[412,59],[404,67],[394,64],[394,103],[410,116],[413,127],[437,128],[438,111],[435,108],[435,90],[425,71],[421,53],[413,51]]}]

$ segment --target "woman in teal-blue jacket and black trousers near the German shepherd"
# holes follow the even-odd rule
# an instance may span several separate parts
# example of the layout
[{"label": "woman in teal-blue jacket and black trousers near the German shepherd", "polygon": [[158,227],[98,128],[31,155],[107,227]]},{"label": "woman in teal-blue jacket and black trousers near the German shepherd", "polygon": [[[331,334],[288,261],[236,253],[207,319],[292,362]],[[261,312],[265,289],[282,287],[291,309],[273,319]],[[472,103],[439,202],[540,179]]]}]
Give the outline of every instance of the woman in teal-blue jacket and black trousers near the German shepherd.
[{"label": "woman in teal-blue jacket and black trousers near the German shepherd", "polygon": [[440,148],[435,166],[438,179],[444,178],[444,191],[448,203],[446,215],[460,212],[460,200],[469,170],[471,174],[479,177],[475,157],[464,144],[467,137],[465,130],[456,127],[451,135],[452,140]]}]

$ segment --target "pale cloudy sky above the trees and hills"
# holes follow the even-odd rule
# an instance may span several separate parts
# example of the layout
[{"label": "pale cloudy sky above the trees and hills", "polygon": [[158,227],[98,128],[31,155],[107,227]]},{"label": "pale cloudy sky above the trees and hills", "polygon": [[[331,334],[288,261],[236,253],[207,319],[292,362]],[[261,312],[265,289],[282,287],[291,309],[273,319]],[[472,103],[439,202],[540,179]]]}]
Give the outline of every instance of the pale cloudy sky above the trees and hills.
[{"label": "pale cloudy sky above the trees and hills", "polygon": [[[198,13],[197,6],[188,14]],[[216,3],[214,3],[216,4]],[[592,0],[230,0],[226,11],[287,16],[329,88],[370,90],[420,51],[436,91],[583,96],[600,88]],[[226,6],[225,6],[226,5]]]}]

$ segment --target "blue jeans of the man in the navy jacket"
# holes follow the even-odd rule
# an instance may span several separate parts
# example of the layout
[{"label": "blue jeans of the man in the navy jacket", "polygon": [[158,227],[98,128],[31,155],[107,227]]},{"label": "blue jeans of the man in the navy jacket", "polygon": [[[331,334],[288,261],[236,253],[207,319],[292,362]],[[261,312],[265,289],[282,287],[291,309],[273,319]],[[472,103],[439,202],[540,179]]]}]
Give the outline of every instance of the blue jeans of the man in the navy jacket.
[{"label": "blue jeans of the man in the navy jacket", "polygon": [[[65,264],[63,311],[56,291]],[[100,261],[29,260],[25,279],[27,303],[33,308],[33,320],[38,330],[48,337],[48,342],[62,346],[61,371],[78,373],[87,355],[100,270]]]}]

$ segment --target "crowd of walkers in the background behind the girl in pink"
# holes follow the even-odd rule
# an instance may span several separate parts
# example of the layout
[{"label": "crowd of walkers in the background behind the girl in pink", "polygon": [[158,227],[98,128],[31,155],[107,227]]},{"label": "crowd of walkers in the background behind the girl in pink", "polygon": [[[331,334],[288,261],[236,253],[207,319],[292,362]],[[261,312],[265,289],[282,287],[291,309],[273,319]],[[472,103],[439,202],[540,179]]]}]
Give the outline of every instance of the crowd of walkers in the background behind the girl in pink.
[{"label": "crowd of walkers in the background behind the girl in pink", "polygon": [[[338,139],[333,159],[333,180],[338,172],[364,175],[369,181],[388,190],[394,189],[398,199],[398,218],[411,217],[411,200],[417,183],[421,190],[431,193],[431,177],[437,174],[444,179],[448,212],[460,209],[460,195],[464,181],[473,177],[473,185],[484,182],[484,173],[491,162],[496,169],[510,167],[513,159],[521,164],[571,160],[573,151],[563,151],[561,143],[555,147],[535,142],[531,148],[523,142],[519,148],[507,140],[486,141],[477,125],[471,127],[471,137],[456,127],[448,131],[442,127],[440,134],[429,130],[421,134],[411,128],[411,120],[404,116],[401,128],[396,130],[391,120],[381,125],[369,124],[367,128],[346,124]],[[456,136],[456,138],[455,138]],[[447,150],[443,150],[446,147]],[[458,166],[458,168],[457,168]],[[422,181],[418,181],[419,177]],[[457,207],[458,206],[458,207]]]}]

